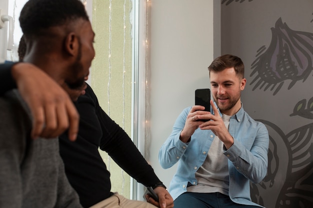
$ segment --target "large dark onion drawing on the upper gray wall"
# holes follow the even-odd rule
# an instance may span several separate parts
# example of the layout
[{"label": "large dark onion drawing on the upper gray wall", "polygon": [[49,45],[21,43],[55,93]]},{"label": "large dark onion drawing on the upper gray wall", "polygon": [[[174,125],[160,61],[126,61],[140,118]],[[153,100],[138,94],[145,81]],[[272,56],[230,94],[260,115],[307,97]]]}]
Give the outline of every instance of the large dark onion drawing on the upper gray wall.
[{"label": "large dark onion drawing on the upper gray wall", "polygon": [[279,18],[271,28],[272,38],[266,49],[257,50],[256,59],[251,64],[250,77],[255,76],[250,85],[252,91],[259,88],[273,91],[275,95],[286,80],[288,89],[297,81],[304,82],[313,69],[313,33],[295,31]]}]

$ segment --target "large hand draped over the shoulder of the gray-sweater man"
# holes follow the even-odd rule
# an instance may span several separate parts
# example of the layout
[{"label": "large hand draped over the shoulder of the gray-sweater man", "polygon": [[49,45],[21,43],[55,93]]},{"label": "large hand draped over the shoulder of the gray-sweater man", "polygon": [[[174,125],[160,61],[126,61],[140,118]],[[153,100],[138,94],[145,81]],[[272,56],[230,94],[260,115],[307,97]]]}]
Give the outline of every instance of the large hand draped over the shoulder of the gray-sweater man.
[{"label": "large hand draped over the shoulder of the gray-sweater man", "polygon": [[33,117],[31,137],[57,137],[69,127],[68,138],[74,141],[79,115],[68,94],[33,64],[16,63],[11,73]]}]

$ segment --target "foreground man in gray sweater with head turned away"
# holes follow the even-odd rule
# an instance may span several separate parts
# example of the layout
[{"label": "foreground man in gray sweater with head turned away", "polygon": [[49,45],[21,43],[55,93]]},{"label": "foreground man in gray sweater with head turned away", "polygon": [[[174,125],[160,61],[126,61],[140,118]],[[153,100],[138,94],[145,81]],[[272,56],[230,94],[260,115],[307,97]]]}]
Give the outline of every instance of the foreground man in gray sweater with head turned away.
[{"label": "foreground man in gray sweater with head turned away", "polygon": [[[94,33],[82,3],[29,0],[19,21],[27,45],[24,60],[40,67],[76,101],[85,93],[94,57]],[[0,98],[0,117],[0,207],[80,208],[64,173],[58,140],[31,139],[28,106],[16,90]]]}]

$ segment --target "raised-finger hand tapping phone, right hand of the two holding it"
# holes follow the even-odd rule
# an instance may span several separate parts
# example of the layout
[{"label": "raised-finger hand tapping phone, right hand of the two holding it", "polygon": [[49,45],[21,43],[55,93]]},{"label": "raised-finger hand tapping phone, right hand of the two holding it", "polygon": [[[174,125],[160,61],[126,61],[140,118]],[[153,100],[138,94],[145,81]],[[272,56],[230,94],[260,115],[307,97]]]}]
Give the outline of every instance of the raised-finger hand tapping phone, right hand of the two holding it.
[{"label": "raised-finger hand tapping phone, right hand of the two holding it", "polygon": [[233,144],[233,138],[226,129],[226,126],[212,100],[210,101],[210,104],[214,115],[209,114],[198,116],[199,119],[209,120],[199,125],[199,128],[202,130],[211,130],[218,137],[218,139],[224,143],[225,148],[228,150]]}]

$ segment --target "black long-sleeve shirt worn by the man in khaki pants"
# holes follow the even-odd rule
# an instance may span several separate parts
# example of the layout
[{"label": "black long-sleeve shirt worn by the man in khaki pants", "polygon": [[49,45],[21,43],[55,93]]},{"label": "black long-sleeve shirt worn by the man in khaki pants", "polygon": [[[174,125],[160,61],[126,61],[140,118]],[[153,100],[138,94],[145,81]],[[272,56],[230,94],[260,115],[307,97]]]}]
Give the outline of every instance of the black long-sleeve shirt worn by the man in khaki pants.
[{"label": "black long-sleeve shirt worn by the man in khaki pants", "polygon": [[[14,86],[8,71],[9,66],[0,64],[0,77],[5,81],[0,84],[0,89],[8,90],[8,86]],[[80,116],[77,139],[70,142],[65,132],[59,137],[59,145],[66,176],[83,207],[90,207],[112,195],[110,173],[98,147],[144,186],[160,182],[128,135],[101,109],[90,86],[75,106]]]}]

